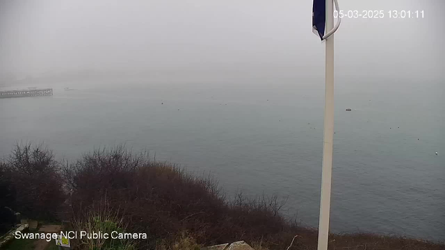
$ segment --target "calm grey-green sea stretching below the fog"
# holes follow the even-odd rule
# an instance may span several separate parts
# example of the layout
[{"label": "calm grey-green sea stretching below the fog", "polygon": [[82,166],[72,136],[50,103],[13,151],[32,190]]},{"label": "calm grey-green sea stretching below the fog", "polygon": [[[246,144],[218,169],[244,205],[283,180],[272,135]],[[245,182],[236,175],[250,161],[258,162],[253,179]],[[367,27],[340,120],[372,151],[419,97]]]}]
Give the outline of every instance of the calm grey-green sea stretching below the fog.
[{"label": "calm grey-green sea stretching below the fog", "polygon": [[[0,99],[0,156],[20,141],[68,160],[126,143],[210,172],[229,196],[289,197],[284,213],[318,226],[324,90],[313,82],[53,85],[53,97]],[[386,84],[337,85],[331,228],[445,240],[444,87]]]}]

